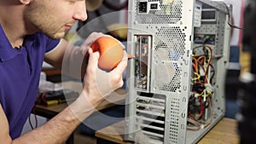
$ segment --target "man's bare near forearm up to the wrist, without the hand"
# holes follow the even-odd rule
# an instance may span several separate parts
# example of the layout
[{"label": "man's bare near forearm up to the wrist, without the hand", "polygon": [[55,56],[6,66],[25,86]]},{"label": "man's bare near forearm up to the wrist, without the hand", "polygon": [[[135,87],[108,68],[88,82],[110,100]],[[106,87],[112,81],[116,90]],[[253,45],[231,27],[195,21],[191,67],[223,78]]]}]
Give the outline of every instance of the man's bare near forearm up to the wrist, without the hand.
[{"label": "man's bare near forearm up to the wrist, without the hand", "polygon": [[98,105],[102,100],[92,98],[90,101],[85,100],[82,94],[78,101],[64,109],[55,118],[50,119],[46,124],[32,130],[25,135],[21,135],[14,141],[9,136],[9,124],[3,108],[0,105],[0,133],[1,144],[61,144],[67,141],[67,138],[73,130],[81,123],[81,120],[88,117],[94,112],[93,105]]}]

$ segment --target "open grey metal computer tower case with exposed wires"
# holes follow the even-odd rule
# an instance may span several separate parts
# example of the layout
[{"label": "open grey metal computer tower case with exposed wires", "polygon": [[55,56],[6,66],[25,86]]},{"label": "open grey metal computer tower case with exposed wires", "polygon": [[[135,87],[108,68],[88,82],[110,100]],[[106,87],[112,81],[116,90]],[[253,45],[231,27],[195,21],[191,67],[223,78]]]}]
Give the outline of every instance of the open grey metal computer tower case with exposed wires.
[{"label": "open grey metal computer tower case with exposed wires", "polygon": [[224,117],[230,9],[209,0],[129,1],[125,140],[196,143]]}]

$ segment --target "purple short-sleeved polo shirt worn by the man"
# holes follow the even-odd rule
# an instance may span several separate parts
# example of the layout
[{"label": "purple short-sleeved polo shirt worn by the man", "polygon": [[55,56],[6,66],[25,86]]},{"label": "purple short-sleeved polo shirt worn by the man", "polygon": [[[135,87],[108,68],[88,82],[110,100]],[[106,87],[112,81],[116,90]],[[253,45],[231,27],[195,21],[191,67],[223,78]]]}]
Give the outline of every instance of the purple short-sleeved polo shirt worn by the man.
[{"label": "purple short-sleeved polo shirt worn by the man", "polygon": [[0,103],[13,139],[20,136],[32,111],[44,54],[58,43],[38,32],[27,36],[20,49],[13,49],[0,25]]}]

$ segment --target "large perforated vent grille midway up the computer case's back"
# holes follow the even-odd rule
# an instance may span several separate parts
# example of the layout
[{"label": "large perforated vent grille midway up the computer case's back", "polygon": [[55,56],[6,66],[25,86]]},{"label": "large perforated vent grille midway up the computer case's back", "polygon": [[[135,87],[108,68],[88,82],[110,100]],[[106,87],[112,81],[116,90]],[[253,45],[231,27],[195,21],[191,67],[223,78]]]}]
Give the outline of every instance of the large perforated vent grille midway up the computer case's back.
[{"label": "large perforated vent grille midway up the computer case's back", "polygon": [[[166,83],[155,82],[153,84],[154,87],[160,87],[160,90],[176,92],[177,89],[181,88],[181,73],[182,69],[178,60],[183,60],[183,55],[185,54],[185,42],[186,35],[183,32],[185,28],[181,29],[178,26],[167,27],[160,26],[158,28],[158,32],[155,33],[155,41],[154,41],[154,55],[162,55],[160,53],[166,53],[165,59],[163,56],[157,57],[158,61],[164,61],[164,67],[168,67],[166,65],[172,65],[175,72],[172,75],[172,78],[166,78],[166,76],[161,75],[161,73],[155,73],[160,75],[160,77],[164,77]],[[169,63],[166,61],[170,61]],[[154,63],[154,62],[153,62]],[[158,65],[158,63],[156,63]],[[163,67],[162,67],[163,68]],[[155,76],[157,77],[157,76]],[[154,78],[154,81],[162,80],[161,78]]]}]

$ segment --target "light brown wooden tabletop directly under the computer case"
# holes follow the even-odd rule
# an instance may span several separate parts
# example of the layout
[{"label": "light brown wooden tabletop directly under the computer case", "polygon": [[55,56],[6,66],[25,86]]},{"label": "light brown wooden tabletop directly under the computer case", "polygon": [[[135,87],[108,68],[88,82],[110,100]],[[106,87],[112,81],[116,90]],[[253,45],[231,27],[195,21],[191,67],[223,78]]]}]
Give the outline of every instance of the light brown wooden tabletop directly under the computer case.
[{"label": "light brown wooden tabletop directly under the computer case", "polygon": [[[125,121],[110,125],[102,130],[96,131],[97,144],[131,144],[124,141]],[[223,118],[216,124],[198,144],[239,144],[237,135],[237,122],[235,119]],[[111,135],[109,135],[111,134]]]}]

